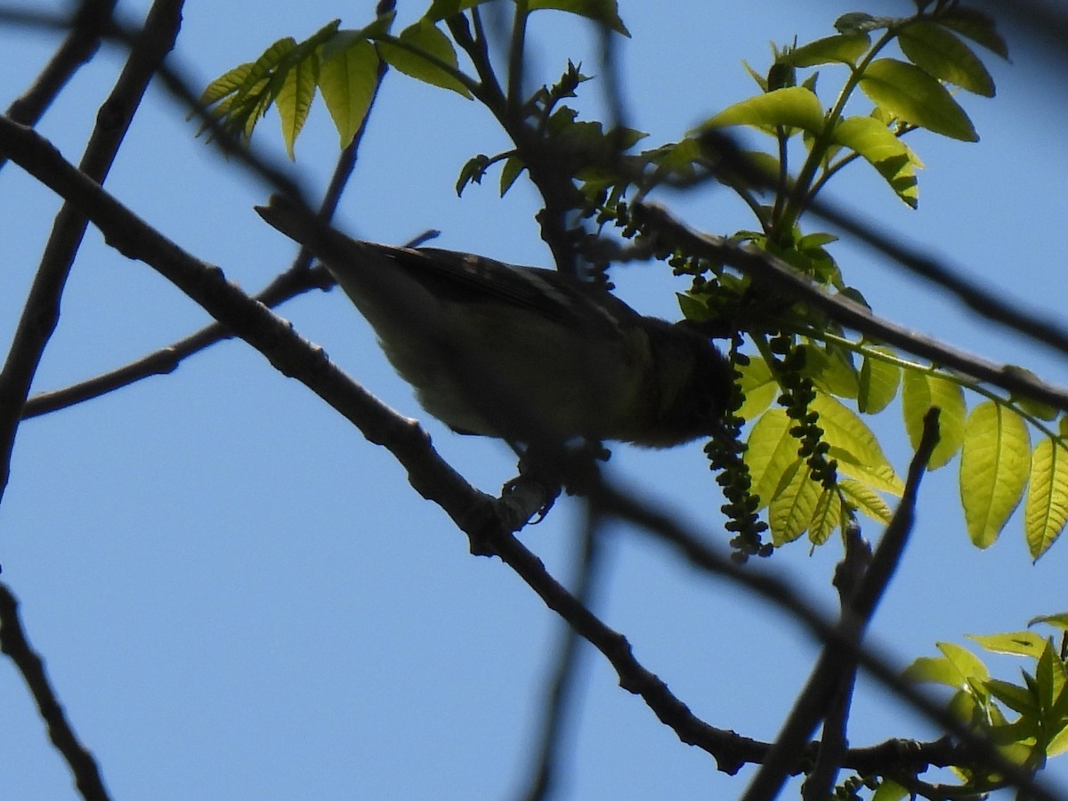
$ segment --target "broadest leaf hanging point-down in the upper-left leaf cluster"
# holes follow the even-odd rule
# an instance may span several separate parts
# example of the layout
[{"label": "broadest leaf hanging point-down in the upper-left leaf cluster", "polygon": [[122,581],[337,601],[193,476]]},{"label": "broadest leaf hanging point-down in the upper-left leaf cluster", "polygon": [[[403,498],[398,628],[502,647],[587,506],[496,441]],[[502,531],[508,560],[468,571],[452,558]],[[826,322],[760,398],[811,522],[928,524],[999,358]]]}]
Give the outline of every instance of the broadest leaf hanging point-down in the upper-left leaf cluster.
[{"label": "broadest leaf hanging point-down in the upper-left leaf cluster", "polygon": [[332,51],[319,65],[319,89],[334,122],[341,146],[347,147],[367,115],[378,87],[378,51],[365,40],[357,40]]}]

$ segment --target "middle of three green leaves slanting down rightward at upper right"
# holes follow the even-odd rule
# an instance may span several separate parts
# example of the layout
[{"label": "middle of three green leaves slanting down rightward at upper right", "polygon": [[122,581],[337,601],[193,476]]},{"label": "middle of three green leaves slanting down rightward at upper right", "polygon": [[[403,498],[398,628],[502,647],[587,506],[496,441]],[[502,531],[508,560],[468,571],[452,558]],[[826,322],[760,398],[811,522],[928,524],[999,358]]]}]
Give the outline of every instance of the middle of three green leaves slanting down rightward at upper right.
[{"label": "middle of three green leaves slanting down rightward at upper right", "polygon": [[901,120],[951,139],[979,141],[972,121],[953,96],[913,64],[896,59],[873,61],[861,78],[861,90]]}]

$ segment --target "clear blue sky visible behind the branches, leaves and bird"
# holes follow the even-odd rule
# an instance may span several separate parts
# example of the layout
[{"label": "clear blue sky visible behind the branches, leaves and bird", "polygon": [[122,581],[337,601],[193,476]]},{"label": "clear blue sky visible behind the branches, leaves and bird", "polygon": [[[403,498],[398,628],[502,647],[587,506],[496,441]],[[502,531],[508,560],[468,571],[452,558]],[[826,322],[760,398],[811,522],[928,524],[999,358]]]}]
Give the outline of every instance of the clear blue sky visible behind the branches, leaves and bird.
[{"label": "clear blue sky visible behind the branches, leaves and bird", "polygon": [[[343,26],[358,28],[373,5],[189,2],[172,65],[200,88],[280,36],[303,38],[341,14]],[[425,7],[398,5],[402,21]],[[37,3],[47,6],[65,3]],[[131,19],[146,6],[120,3]],[[619,43],[623,88],[630,124],[649,132],[648,143],[676,140],[752,94],[741,62],[765,70],[769,41],[811,41],[832,33],[844,12],[907,14],[911,3],[694,0],[665,7],[621,4],[633,34]],[[927,167],[920,210],[864,166],[834,182],[830,197],[1004,297],[1057,316],[1066,300],[1059,239],[1068,210],[1063,65],[1043,61],[1021,31],[1003,33],[1012,65],[985,53],[998,98],[961,98],[981,141],[910,138]],[[0,27],[0,104],[25,91],[58,41]],[[528,73],[539,83],[554,80],[568,57],[597,72],[593,31],[577,18],[539,13],[530,41]],[[78,160],[122,61],[116,49],[103,52],[37,126],[67,159]],[[820,85],[828,91],[842,77],[827,69]],[[580,108],[600,113],[597,85],[583,90]],[[293,247],[252,211],[268,189],[194,139],[197,126],[185,115],[162,89],[151,90],[107,187],[255,292],[288,266]],[[276,117],[255,141],[284,161]],[[546,265],[536,201],[522,182],[503,201],[496,174],[456,197],[461,164],[504,147],[488,112],[390,75],[340,224],[386,242],[439,229],[438,247]],[[318,105],[288,169],[321,191],[336,154]],[[753,226],[726,191],[662,200],[711,233]],[[59,201],[7,164],[0,203],[0,327],[10,340]],[[810,230],[819,230],[818,221]],[[1068,382],[1063,357],[970,317],[863,247],[844,242],[834,253],[884,316]],[[678,316],[673,292],[682,285],[659,265],[616,270],[613,280],[640,311]],[[474,485],[496,492],[511,477],[514,457],[503,445],[457,437],[421,413],[341,293],[310,293],[279,313],[372,392],[419,417]],[[113,368],[207,321],[91,229],[34,390]],[[904,473],[910,452],[899,407],[869,422]],[[933,656],[938,641],[1017,630],[1035,615],[1068,610],[1068,546],[1032,564],[1014,520],[993,547],[976,550],[964,532],[956,469],[955,460],[925,480],[909,552],[873,624],[874,642],[901,665]],[[725,541],[700,444],[621,446],[611,473]],[[565,581],[580,519],[575,503],[562,502],[521,535]],[[878,535],[874,525],[865,533]],[[639,660],[708,723],[773,738],[817,644],[781,611],[695,575],[640,532],[612,527],[604,550],[595,609],[630,639]],[[767,566],[831,612],[829,580],[839,555],[836,540],[813,554],[799,543]],[[415,496],[389,453],[239,341],[197,355],[170,376],[27,422],[0,507],[0,563],[31,642],[116,799],[508,799],[525,786],[561,623],[499,561],[472,557],[466,538]],[[1022,663],[990,663],[1018,679]],[[557,798],[734,798],[752,775],[745,768],[741,778],[725,776],[707,754],[681,745],[588,647],[579,687]],[[0,796],[74,798],[6,662],[0,708]],[[862,679],[852,743],[891,736],[937,733]],[[1068,787],[1066,766],[1054,761],[1049,773]]]}]

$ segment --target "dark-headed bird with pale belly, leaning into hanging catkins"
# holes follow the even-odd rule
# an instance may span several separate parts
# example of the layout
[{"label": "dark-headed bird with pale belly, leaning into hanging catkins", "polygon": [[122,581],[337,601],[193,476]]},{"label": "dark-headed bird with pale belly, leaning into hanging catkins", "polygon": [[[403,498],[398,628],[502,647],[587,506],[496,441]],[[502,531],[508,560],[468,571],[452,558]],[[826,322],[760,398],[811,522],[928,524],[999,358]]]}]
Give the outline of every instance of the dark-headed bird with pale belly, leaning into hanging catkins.
[{"label": "dark-headed bird with pale belly, leaning into hanging catkins", "polygon": [[326,265],[423,408],[458,433],[668,447],[719,427],[732,370],[685,323],[553,270],[357,241],[281,197],[256,211]]}]

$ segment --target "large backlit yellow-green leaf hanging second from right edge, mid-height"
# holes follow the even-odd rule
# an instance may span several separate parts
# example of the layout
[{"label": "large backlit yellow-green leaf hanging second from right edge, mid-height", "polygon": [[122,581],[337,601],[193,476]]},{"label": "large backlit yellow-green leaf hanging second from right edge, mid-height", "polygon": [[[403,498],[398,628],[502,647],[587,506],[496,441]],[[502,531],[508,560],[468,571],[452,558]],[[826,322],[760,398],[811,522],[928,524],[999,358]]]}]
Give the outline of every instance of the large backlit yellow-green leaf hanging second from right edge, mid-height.
[{"label": "large backlit yellow-green leaf hanging second from right edge, mid-height", "polygon": [[1020,503],[1030,461],[1027,425],[1019,414],[992,400],[972,410],[960,457],[960,499],[977,547],[993,544]]}]

